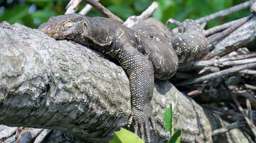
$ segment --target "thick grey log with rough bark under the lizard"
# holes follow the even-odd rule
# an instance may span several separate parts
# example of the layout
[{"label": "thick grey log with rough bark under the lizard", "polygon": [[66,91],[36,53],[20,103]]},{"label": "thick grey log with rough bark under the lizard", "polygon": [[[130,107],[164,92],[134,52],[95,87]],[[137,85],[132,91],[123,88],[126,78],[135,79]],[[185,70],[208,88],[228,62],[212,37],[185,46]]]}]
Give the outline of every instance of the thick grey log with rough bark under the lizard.
[{"label": "thick grey log with rough bark under the lizard", "polygon": [[[97,51],[56,41],[20,24],[0,24],[0,124],[61,130],[87,142],[108,142],[131,111],[129,80],[121,67]],[[239,129],[211,138],[228,125],[180,93],[168,81],[155,81],[152,104],[164,142],[164,110],[172,103],[175,128],[183,142],[252,142]]]}]

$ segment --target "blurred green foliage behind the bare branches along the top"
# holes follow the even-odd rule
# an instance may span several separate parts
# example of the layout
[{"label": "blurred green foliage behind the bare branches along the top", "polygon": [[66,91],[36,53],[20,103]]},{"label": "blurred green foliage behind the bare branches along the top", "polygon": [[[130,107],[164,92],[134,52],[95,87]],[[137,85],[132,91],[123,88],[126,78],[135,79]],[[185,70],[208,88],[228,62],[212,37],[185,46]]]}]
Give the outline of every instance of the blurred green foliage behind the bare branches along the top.
[{"label": "blurred green foliage behind the bare branches along the top", "polygon": [[[100,3],[114,14],[125,20],[131,15],[139,15],[151,0],[101,0]],[[245,0],[158,0],[159,8],[154,12],[163,23],[170,17],[182,21],[187,18],[197,19],[245,2]],[[13,24],[18,22],[28,27],[37,28],[49,17],[65,13],[68,0],[0,0],[0,21]],[[86,5],[82,1],[78,11]],[[242,10],[226,17],[208,22],[207,27],[238,19],[249,14],[249,9]],[[91,10],[88,16],[102,16],[96,10]]]}]

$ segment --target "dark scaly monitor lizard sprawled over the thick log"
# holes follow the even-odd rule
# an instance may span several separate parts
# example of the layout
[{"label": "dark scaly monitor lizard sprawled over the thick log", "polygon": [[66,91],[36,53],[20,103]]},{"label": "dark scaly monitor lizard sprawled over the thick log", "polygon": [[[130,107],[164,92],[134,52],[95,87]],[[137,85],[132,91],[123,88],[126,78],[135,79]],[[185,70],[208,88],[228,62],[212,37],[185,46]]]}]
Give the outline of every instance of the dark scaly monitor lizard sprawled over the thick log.
[{"label": "dark scaly monitor lizard sprawled over the thick log", "polygon": [[[191,42],[195,42],[197,37],[201,38],[197,35],[200,32],[193,33],[194,38],[188,36],[189,30],[176,35],[153,18],[144,20],[132,30],[110,18],[66,14],[51,17],[38,29],[55,39],[72,40],[94,47],[119,61],[130,78],[132,112],[127,126],[133,123],[134,132],[140,134],[147,142],[151,142],[150,124],[156,131],[151,104],[154,78],[172,77],[178,69],[178,56],[181,56],[179,57],[181,60],[194,59],[194,55],[198,54],[194,54],[195,51],[201,51],[194,48],[202,47],[197,46],[202,42],[198,41],[195,44]],[[184,38],[190,39],[186,41]],[[184,44],[182,41],[185,41],[187,47],[181,46]],[[177,46],[173,47],[173,45]],[[191,53],[185,49],[191,50]],[[181,54],[185,54],[186,57],[183,58],[184,55]],[[193,57],[187,54],[193,54]]]}]

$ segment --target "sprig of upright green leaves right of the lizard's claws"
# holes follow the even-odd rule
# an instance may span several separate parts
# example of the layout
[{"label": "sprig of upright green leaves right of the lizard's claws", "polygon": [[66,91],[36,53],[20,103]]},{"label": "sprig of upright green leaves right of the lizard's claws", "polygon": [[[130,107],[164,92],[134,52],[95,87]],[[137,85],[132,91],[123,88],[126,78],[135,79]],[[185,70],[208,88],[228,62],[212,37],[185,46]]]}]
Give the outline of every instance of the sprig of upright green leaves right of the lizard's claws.
[{"label": "sprig of upright green leaves right of the lizard's claws", "polygon": [[170,105],[163,114],[163,121],[165,123],[165,129],[170,132],[170,139],[168,143],[180,143],[181,130],[178,129],[174,131],[174,122],[173,122],[173,108]]}]

